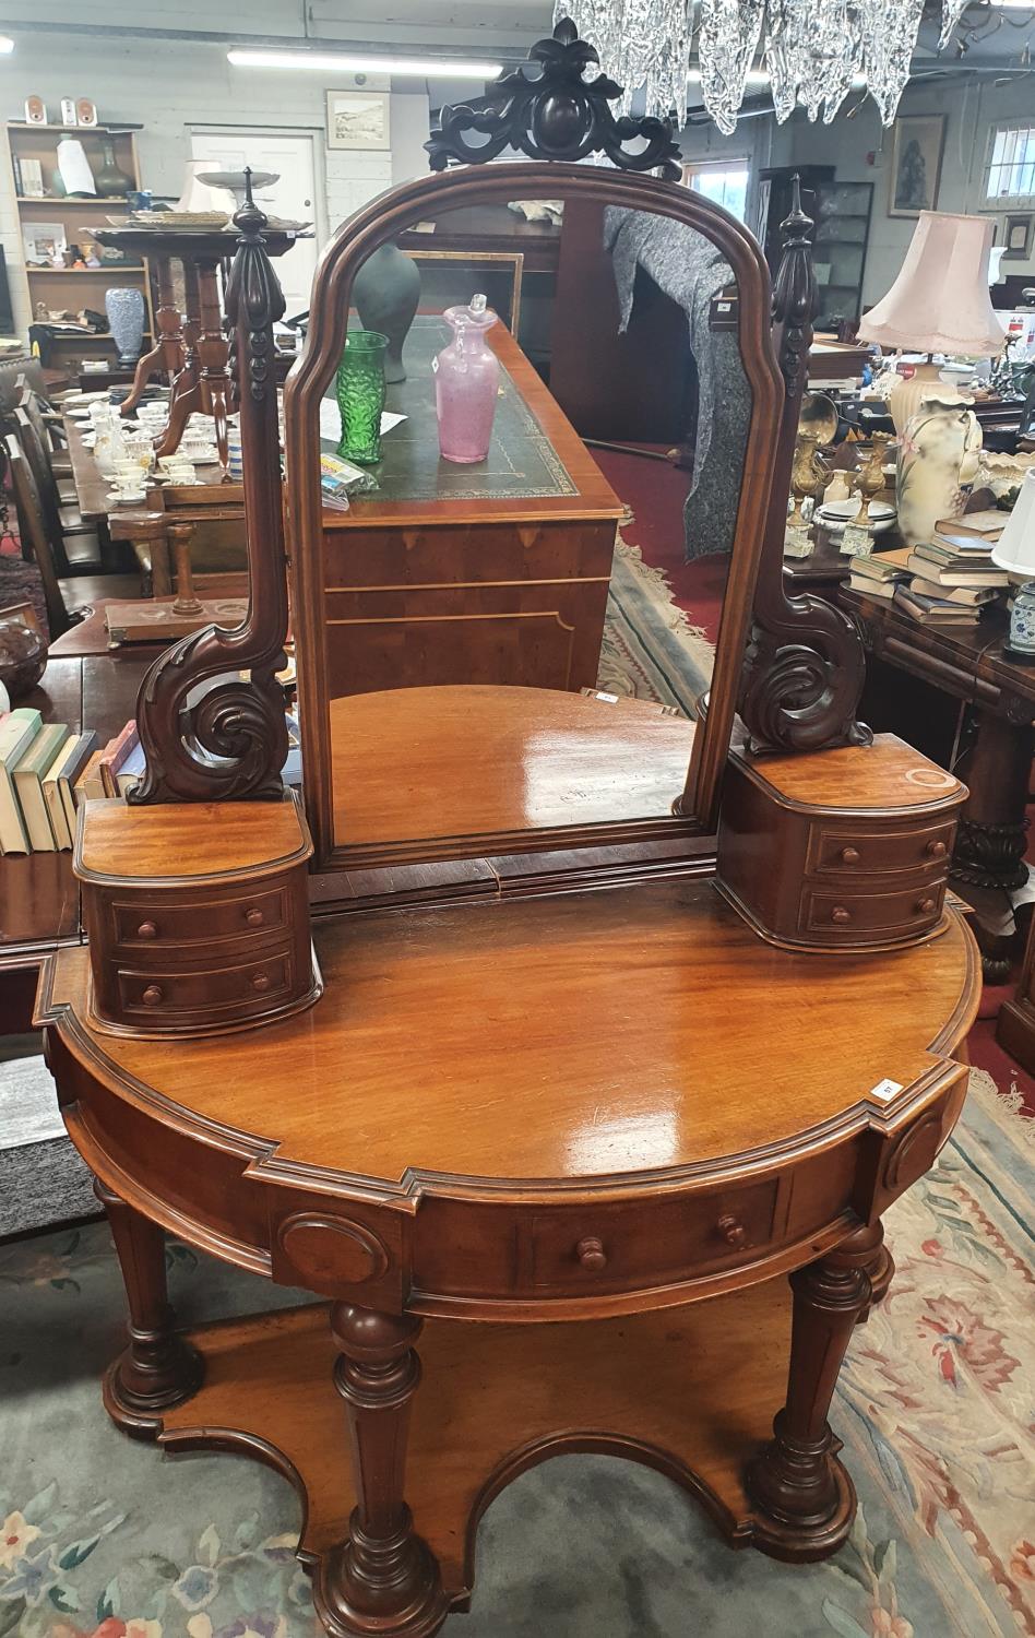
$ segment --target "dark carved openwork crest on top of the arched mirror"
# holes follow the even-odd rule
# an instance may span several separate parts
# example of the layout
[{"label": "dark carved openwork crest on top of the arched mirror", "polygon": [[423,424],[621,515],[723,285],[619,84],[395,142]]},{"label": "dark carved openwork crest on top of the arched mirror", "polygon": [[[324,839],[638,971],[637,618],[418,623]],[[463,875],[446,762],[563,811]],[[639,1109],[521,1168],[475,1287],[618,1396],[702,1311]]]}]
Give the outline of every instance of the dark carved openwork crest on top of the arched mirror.
[{"label": "dark carved openwork crest on top of the arched mirror", "polygon": [[[504,147],[516,147],[529,159],[606,154],[619,170],[660,170],[667,182],[678,182],[681,154],[671,123],[616,116],[611,103],[622,87],[606,74],[586,80],[590,66],[599,67],[596,51],[563,18],[554,38],[532,46],[529,61],[496,80],[485,97],[442,108],[437,129],[424,143],[431,169],[445,170],[450,159],[480,165]],[[483,141],[468,141],[470,136]],[[627,146],[640,139],[645,147]]]}]

